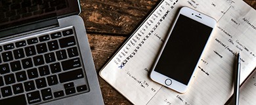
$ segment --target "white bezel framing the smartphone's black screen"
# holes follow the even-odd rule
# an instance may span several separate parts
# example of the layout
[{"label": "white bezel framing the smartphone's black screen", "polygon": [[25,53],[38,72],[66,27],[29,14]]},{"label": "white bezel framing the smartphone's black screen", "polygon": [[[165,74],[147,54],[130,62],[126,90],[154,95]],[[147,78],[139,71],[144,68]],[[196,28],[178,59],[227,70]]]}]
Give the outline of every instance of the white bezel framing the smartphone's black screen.
[{"label": "white bezel framing the smartphone's black screen", "polygon": [[[173,28],[174,28],[180,14],[183,14],[184,16],[187,16],[188,18],[192,18],[192,20],[196,20],[197,22],[200,22],[202,24],[205,24],[206,26],[213,28],[213,31],[217,24],[217,22],[214,18],[211,18],[210,16],[207,16],[206,14],[203,14],[202,12],[195,11],[188,7],[182,7],[181,10],[179,11],[177,18],[175,19],[173,26],[171,27],[171,31],[168,33],[167,39],[165,40],[164,45],[161,49],[161,53],[163,52],[163,49],[169,39],[171,32],[173,31]],[[211,34],[213,33],[213,31],[211,32]],[[211,37],[211,35],[209,36],[209,38],[210,37]],[[207,43],[209,42],[209,38],[208,38]],[[207,43],[206,43],[205,47],[207,46]],[[204,47],[204,49],[205,49],[205,47]],[[205,51],[204,49],[203,49],[203,52]],[[174,91],[177,91],[178,93],[185,93],[188,90],[188,86],[190,85],[190,83],[192,81],[192,77],[195,75],[196,67],[198,66],[199,61],[197,62],[196,66],[194,68],[194,71],[192,73],[192,76],[190,77],[190,80],[188,81],[188,85],[184,85],[183,83],[180,83],[179,81],[176,81],[175,79],[172,79],[170,77],[167,77],[163,74],[160,74],[160,73],[154,71],[154,68],[156,67],[157,62],[160,59],[161,53],[158,55],[158,58],[152,68],[152,72],[150,73],[150,78],[153,81],[156,81],[157,83],[160,83],[161,85],[164,85],[165,87],[168,87],[170,89],[173,89]],[[200,56],[200,59],[201,59],[201,57],[202,56]]]}]

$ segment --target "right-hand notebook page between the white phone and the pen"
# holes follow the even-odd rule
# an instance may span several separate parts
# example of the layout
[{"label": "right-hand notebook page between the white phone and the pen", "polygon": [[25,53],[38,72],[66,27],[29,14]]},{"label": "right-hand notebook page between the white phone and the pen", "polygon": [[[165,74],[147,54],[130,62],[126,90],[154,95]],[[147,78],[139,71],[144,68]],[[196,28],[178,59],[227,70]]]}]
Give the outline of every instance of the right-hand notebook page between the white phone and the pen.
[{"label": "right-hand notebook page between the white phone and the pen", "polygon": [[[237,51],[242,54],[241,83],[253,71],[256,66],[256,30],[252,24],[256,22],[256,11],[242,1],[234,2],[237,4],[232,5],[218,21],[217,30],[188,92],[178,94],[162,87],[148,104],[225,104],[233,93],[233,64]],[[255,90],[255,87],[247,88]],[[241,96],[256,95],[245,91]],[[247,102],[255,104],[256,101]]]}]

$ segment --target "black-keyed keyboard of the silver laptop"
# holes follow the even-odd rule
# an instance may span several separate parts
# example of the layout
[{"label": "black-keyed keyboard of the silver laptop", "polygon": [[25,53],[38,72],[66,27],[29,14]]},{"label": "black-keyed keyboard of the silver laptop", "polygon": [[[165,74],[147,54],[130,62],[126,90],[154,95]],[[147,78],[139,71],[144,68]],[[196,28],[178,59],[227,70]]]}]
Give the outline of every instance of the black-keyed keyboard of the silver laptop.
[{"label": "black-keyed keyboard of the silver laptop", "polygon": [[40,104],[89,92],[73,27],[0,44],[0,104]]}]

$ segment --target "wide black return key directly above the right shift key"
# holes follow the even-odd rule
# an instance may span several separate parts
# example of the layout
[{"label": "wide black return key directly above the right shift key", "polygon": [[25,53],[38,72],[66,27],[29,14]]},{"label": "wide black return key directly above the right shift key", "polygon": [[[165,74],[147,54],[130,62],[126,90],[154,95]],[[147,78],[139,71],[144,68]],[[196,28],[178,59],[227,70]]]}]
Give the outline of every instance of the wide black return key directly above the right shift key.
[{"label": "wide black return key directly above the right shift key", "polygon": [[73,68],[81,67],[81,62],[79,58],[73,58],[71,60],[66,60],[61,62],[63,70],[71,70]]}]

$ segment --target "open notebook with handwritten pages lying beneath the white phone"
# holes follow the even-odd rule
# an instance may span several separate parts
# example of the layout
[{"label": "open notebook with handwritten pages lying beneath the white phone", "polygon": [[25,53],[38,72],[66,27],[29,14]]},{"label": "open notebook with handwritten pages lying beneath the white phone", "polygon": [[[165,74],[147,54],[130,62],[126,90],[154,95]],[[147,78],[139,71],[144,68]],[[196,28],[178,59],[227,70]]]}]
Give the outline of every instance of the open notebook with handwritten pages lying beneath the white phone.
[{"label": "open notebook with handwritten pages lying beneath the white phone", "polygon": [[[215,18],[218,24],[192,85],[187,93],[179,94],[155,83],[148,75],[175,14],[184,6]],[[242,56],[241,83],[256,66],[255,22],[256,11],[239,0],[161,1],[102,68],[100,76],[133,104],[224,104],[232,95],[236,52]]]}]

